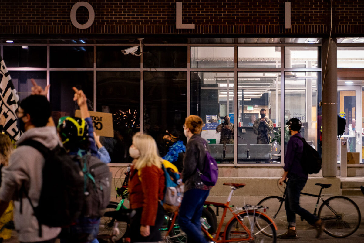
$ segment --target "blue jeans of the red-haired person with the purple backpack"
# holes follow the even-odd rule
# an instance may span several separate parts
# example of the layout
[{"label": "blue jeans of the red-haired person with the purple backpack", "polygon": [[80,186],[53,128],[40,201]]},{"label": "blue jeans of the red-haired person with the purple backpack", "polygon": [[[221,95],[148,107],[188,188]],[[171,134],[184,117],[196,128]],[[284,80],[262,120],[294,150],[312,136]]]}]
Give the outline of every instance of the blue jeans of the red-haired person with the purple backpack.
[{"label": "blue jeans of the red-haired person with the purple backpack", "polygon": [[190,189],[183,193],[181,207],[178,212],[178,224],[186,233],[189,243],[207,242],[202,235],[200,217],[209,192],[202,189]]}]

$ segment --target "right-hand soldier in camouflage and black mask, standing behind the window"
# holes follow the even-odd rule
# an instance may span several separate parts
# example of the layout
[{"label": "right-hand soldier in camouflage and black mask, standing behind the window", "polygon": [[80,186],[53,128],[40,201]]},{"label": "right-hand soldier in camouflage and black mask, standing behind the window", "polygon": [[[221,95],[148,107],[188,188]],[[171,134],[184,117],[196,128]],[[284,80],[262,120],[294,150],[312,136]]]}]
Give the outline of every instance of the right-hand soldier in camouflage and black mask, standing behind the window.
[{"label": "right-hand soldier in camouflage and black mask, standing behind the window", "polygon": [[257,144],[269,144],[270,133],[273,131],[273,122],[266,117],[267,111],[265,109],[260,110],[261,118],[256,119],[253,124],[253,131],[257,136]]}]

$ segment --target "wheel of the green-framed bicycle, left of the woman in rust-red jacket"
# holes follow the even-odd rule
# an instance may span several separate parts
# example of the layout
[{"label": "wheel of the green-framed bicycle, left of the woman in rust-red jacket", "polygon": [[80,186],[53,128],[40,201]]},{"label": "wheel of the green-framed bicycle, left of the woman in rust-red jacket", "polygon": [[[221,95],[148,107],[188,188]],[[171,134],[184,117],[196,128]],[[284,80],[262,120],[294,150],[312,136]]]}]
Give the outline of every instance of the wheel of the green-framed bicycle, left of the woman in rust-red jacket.
[{"label": "wheel of the green-framed bicycle, left of the woman in rust-red jacket", "polygon": [[[116,207],[118,206],[117,203],[110,202],[107,205],[105,212],[115,211]],[[99,234],[97,235],[97,239],[100,243],[103,242],[111,242],[111,234],[112,234],[112,227],[114,226],[115,219],[108,216],[102,216],[100,219],[100,227],[99,227]],[[118,222],[118,229],[119,234],[115,236],[115,240],[119,240],[126,232],[127,223],[126,222]]]}]

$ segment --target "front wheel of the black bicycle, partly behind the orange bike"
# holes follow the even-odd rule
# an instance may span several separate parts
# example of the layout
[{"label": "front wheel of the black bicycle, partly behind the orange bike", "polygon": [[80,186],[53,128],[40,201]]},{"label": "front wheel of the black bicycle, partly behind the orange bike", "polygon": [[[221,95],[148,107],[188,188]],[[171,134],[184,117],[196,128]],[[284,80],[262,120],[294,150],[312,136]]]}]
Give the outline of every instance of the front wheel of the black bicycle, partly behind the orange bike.
[{"label": "front wheel of the black bicycle, partly behind the orange bike", "polygon": [[[284,201],[282,197],[270,196],[261,200],[258,205],[268,207],[264,212],[270,217],[277,226],[277,236],[284,234],[287,231],[287,216],[284,209]],[[281,202],[282,201],[282,202]],[[262,231],[264,234],[269,235],[269,232]]]}]

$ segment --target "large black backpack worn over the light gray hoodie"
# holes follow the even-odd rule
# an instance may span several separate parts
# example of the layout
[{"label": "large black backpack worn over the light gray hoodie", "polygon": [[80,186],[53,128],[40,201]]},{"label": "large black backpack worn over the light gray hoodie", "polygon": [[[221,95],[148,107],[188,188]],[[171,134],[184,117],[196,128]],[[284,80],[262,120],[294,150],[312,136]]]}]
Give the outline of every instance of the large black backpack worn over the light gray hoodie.
[{"label": "large black backpack worn over the light gray hoodie", "polygon": [[[37,149],[46,159],[37,207],[33,206],[24,185],[20,190],[20,193],[24,193],[28,198],[33,208],[41,237],[41,224],[49,227],[70,226],[81,215],[84,200],[84,178],[80,166],[68,156],[63,147],[57,145],[50,150],[35,140],[26,140],[18,146],[24,145]],[[21,197],[20,195],[20,200]],[[20,213],[21,211],[20,201]]]}]

